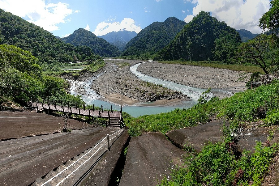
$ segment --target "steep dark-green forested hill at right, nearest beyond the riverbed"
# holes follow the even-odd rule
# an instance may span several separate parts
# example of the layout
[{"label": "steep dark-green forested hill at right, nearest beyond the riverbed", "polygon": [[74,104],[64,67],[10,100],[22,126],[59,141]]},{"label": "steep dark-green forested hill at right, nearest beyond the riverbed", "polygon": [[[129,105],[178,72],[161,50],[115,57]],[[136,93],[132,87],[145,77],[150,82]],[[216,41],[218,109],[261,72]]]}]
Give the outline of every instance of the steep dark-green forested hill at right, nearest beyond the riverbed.
[{"label": "steep dark-green forested hill at right, nearest beyond the riverbed", "polygon": [[222,21],[201,11],[154,59],[227,61],[241,43],[239,33]]}]

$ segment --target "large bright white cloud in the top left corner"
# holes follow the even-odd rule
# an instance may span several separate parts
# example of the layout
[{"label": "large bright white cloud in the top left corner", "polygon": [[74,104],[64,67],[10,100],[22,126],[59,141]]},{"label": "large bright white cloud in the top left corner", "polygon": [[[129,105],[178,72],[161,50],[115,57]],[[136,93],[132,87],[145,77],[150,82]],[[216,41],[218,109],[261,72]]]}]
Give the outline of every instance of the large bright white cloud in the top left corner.
[{"label": "large bright white cloud in the top left corner", "polygon": [[44,0],[0,1],[3,10],[18,15],[49,32],[58,30],[57,24],[67,21],[66,17],[73,12],[68,6],[62,2],[45,4]]}]

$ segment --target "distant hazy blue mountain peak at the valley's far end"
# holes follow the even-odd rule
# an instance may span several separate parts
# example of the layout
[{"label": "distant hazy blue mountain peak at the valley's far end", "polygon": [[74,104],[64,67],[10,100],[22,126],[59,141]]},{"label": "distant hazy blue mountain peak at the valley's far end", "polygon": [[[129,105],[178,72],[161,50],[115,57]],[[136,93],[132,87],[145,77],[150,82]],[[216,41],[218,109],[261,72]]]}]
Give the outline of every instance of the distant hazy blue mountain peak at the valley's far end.
[{"label": "distant hazy blue mountain peak at the valley's far end", "polygon": [[121,29],[118,32],[113,31],[107,33],[106,35],[98,36],[98,37],[105,39],[110,44],[116,46],[120,51],[123,51],[126,44],[136,35],[137,33],[135,31],[131,32],[125,29]]}]

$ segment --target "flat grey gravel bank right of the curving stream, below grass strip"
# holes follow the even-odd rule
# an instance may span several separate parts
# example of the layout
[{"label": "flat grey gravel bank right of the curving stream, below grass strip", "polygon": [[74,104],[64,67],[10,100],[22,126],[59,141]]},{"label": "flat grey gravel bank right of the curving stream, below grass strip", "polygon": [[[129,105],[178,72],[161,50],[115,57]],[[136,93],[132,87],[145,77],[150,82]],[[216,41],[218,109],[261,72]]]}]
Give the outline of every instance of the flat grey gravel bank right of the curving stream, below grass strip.
[{"label": "flat grey gravel bank right of the curving stream, below grass strip", "polygon": [[247,78],[238,81],[242,72],[218,69],[212,67],[189,66],[158,63],[156,61],[140,64],[139,72],[154,78],[175,82],[190,87],[208,89],[222,89],[212,93],[220,99],[230,97],[235,92],[246,90],[245,84],[249,81],[251,73]]}]

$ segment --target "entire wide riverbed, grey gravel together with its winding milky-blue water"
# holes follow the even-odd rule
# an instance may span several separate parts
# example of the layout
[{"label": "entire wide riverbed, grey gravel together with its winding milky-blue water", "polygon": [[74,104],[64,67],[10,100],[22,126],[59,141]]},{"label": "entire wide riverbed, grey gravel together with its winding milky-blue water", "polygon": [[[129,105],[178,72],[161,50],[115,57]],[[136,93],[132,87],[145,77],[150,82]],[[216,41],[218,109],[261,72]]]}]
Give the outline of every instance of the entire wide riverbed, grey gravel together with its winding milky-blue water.
[{"label": "entire wide riverbed, grey gravel together with its winding milky-blue water", "polygon": [[[108,109],[110,105],[112,105],[113,109],[116,110],[119,110],[120,105],[122,105],[122,111],[128,112],[134,117],[145,114],[169,112],[175,108],[190,108],[197,103],[201,93],[207,90],[206,87],[201,88],[205,86],[205,84],[207,84],[208,87],[213,87],[212,90],[214,95],[218,95],[221,98],[230,97],[234,92],[245,90],[245,83],[237,82],[237,74],[240,74],[240,72],[232,70],[224,71],[224,69],[219,70],[215,68],[208,69],[208,67],[197,67],[199,71],[201,71],[201,74],[205,74],[205,76],[208,70],[211,70],[211,72],[214,71],[219,77],[225,77],[231,74],[230,80],[228,81],[226,78],[216,78],[212,76],[212,86],[212,83],[203,83],[204,81],[210,81],[208,76],[205,77],[203,81],[201,77],[197,77],[196,81],[195,78],[191,77],[192,81],[200,86],[191,87],[188,86],[187,81],[185,81],[185,79],[189,79],[189,77],[182,76],[181,73],[185,73],[187,68],[196,68],[196,66],[178,67],[178,65],[160,64],[153,61],[146,62],[141,60],[105,61],[106,66],[104,70],[98,74],[93,74],[92,77],[80,81],[69,80],[72,83],[70,93],[73,95],[82,95],[86,104],[103,105],[104,108]],[[130,66],[118,68],[116,64],[119,65],[121,62],[128,62]],[[165,65],[170,65],[167,66],[167,68],[170,69],[166,70]],[[140,69],[140,72],[137,69]],[[204,69],[205,72],[202,72],[202,69]],[[178,74],[180,74],[180,81],[177,79]],[[171,78],[172,76],[176,78]],[[216,79],[220,80],[215,81]],[[146,82],[153,82],[160,86],[144,89],[146,87]],[[226,83],[227,86],[220,88],[217,85],[220,83]],[[188,84],[192,85],[191,82]],[[170,90],[172,91],[170,92]],[[146,99],[156,99],[154,92],[161,92],[162,95],[160,95],[159,100],[155,102],[146,101]],[[172,97],[168,97],[167,95],[172,95]],[[210,94],[209,96],[212,97],[214,95]]]}]

